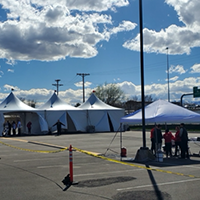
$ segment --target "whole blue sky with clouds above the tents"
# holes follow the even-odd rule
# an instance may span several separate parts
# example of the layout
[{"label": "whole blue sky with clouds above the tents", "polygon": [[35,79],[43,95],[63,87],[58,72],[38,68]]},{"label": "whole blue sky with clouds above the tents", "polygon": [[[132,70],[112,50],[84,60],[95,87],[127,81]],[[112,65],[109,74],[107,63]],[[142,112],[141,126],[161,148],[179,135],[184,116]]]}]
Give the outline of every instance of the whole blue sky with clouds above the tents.
[{"label": "whole blue sky with clouds above the tents", "polygon": [[[143,0],[145,95],[180,101],[200,86],[199,0]],[[139,0],[0,0],[0,102],[70,105],[114,83],[141,99]],[[168,47],[168,50],[167,50]],[[168,61],[167,61],[168,60]],[[199,102],[192,95],[184,102]]]}]

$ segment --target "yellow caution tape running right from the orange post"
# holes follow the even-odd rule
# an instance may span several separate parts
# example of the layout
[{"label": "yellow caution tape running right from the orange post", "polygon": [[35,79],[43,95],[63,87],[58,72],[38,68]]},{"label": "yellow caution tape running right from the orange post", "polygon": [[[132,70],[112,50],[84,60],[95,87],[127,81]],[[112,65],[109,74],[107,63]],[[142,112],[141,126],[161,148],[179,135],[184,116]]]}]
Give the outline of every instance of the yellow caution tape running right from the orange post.
[{"label": "yellow caution tape running right from the orange post", "polygon": [[84,154],[87,154],[87,155],[90,155],[90,156],[94,156],[96,158],[100,158],[100,159],[107,160],[107,161],[114,162],[114,163],[119,163],[119,164],[123,164],[123,165],[132,166],[132,167],[137,167],[137,168],[140,168],[140,169],[157,171],[157,172],[162,172],[162,173],[167,173],[167,174],[174,174],[174,175],[185,176],[185,177],[190,177],[190,178],[200,178],[200,176],[198,177],[198,176],[194,176],[194,175],[177,173],[177,172],[172,172],[172,171],[167,171],[167,170],[162,170],[162,169],[155,169],[155,168],[151,168],[151,167],[145,167],[145,166],[142,166],[142,165],[136,165],[136,164],[133,164],[133,163],[119,161],[119,160],[115,160],[115,159],[112,159],[112,158],[108,158],[108,157],[102,156],[102,155],[97,154],[97,153],[92,153],[90,151],[81,150],[81,149],[78,149],[76,147],[73,147],[73,149],[75,149],[76,151],[79,151],[81,153],[84,153]]}]

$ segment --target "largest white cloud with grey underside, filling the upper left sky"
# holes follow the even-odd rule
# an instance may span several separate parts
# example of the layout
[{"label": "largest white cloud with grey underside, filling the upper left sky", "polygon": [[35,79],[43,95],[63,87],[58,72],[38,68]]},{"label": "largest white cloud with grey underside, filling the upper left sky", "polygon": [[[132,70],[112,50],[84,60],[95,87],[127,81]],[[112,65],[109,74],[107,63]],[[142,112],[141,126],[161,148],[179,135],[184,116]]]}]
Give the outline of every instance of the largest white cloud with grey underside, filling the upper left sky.
[{"label": "largest white cloud with grey underside, filling the upper left sky", "polygon": [[0,22],[0,58],[10,64],[67,56],[91,58],[98,54],[100,41],[135,28],[128,21],[114,27],[111,16],[100,13],[128,6],[128,0],[2,0],[1,4],[8,12],[7,20]]}]

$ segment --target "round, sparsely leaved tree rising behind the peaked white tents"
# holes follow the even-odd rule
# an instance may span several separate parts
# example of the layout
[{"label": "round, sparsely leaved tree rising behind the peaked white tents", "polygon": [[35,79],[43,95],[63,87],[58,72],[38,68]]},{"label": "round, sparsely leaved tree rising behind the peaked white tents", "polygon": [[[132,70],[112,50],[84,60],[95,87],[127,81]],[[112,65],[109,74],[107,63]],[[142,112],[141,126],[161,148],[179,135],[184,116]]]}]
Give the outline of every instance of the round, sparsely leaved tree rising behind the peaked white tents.
[{"label": "round, sparsely leaved tree rising behind the peaked white tents", "polygon": [[106,104],[116,106],[124,99],[124,92],[114,83],[100,85],[95,90],[95,95]]}]

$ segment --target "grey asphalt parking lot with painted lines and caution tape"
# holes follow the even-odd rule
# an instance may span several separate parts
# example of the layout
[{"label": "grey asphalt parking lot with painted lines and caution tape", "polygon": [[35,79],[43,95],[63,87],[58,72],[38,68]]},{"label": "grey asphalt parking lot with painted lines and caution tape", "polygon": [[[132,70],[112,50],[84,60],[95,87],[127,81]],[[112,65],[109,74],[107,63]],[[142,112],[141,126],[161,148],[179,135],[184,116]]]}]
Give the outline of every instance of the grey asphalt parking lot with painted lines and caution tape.
[{"label": "grey asphalt parking lot with painted lines and caution tape", "polygon": [[[1,199],[199,199],[198,142],[189,142],[190,160],[164,157],[163,162],[134,160],[143,145],[140,131],[124,132],[122,144],[127,157],[121,161],[119,133],[1,137]],[[146,144],[150,147],[148,132]],[[70,145],[78,149],[73,151],[76,184],[64,191]]]}]

